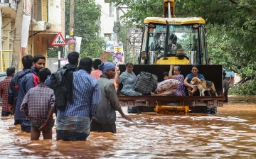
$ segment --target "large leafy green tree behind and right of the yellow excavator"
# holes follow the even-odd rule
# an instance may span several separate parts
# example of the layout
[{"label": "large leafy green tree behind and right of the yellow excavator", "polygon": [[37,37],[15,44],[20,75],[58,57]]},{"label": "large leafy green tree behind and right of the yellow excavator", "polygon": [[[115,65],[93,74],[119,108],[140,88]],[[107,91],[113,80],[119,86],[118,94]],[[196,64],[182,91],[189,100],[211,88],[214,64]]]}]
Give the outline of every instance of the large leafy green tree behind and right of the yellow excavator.
[{"label": "large leafy green tree behind and right of the yellow excavator", "polygon": [[[112,0],[126,5],[127,13],[121,18],[129,26],[143,26],[144,18],[161,17],[164,0]],[[176,17],[203,17],[208,28],[208,53],[211,61],[224,67],[238,65],[241,75],[255,74],[256,69],[256,2],[176,0]],[[237,66],[235,66],[235,65]],[[236,69],[237,70],[237,69]]]}]

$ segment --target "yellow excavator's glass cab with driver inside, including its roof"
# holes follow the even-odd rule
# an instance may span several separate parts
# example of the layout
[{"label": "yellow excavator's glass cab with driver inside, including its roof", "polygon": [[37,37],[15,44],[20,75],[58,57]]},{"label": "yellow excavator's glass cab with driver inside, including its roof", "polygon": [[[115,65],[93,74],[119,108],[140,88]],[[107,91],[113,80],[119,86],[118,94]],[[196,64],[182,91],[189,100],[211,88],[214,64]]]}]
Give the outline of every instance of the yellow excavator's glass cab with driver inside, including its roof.
[{"label": "yellow excavator's glass cab with driver inside, including its roof", "polygon": [[139,63],[208,64],[203,18],[146,18]]}]

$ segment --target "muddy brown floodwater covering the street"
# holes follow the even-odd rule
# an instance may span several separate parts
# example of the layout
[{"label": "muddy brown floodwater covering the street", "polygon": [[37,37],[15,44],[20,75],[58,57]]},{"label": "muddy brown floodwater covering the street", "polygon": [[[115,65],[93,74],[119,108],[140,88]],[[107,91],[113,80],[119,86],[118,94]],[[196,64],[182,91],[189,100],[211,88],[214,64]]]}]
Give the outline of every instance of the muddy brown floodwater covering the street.
[{"label": "muddy brown floodwater covering the street", "polygon": [[[126,108],[123,108],[127,112]],[[118,114],[118,112],[117,112]],[[256,158],[256,97],[230,97],[216,115],[117,115],[117,133],[90,133],[87,141],[30,141],[0,120],[1,158]]]}]

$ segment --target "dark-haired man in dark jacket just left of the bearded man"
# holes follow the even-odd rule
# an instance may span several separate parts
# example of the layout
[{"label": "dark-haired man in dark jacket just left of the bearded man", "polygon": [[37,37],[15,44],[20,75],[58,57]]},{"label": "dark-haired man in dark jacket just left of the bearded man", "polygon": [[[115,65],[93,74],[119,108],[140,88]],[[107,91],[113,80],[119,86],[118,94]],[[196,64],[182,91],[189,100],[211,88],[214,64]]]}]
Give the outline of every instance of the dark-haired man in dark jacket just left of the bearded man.
[{"label": "dark-haired man in dark jacket just left of the bearded man", "polygon": [[[16,102],[18,97],[18,84],[21,82],[21,78],[27,73],[31,73],[31,67],[33,63],[33,56],[25,55],[21,59],[23,70],[17,72],[11,79],[8,89],[8,103],[11,105],[10,111],[15,113]],[[20,124],[19,121],[15,120],[14,125]]]}]

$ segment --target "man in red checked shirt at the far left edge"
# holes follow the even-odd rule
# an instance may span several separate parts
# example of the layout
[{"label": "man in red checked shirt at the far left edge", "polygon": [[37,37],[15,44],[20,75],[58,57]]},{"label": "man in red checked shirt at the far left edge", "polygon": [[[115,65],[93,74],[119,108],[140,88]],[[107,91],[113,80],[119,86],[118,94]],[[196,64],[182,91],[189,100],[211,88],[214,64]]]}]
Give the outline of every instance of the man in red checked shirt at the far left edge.
[{"label": "man in red checked shirt at the far left edge", "polygon": [[7,77],[0,82],[0,97],[3,99],[1,116],[9,116],[10,114],[13,114],[13,112],[10,111],[11,105],[8,104],[8,88],[11,82],[11,78],[14,77],[15,68],[7,68],[6,74]]}]

